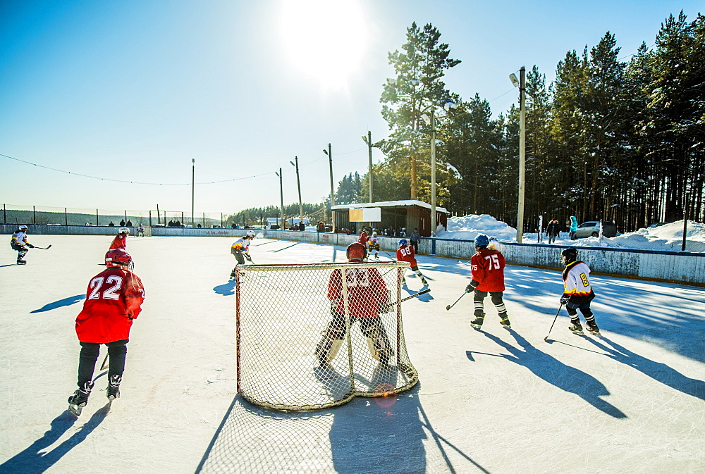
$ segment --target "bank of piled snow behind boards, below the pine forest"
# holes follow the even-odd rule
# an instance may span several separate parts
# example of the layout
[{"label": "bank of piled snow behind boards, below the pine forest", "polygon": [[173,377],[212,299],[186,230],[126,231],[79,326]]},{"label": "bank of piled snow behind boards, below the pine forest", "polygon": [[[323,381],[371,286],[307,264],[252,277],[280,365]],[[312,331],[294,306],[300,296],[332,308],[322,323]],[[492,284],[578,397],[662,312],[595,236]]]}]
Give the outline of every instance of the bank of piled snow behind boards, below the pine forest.
[{"label": "bank of piled snow behind boards, below the pine forest", "polygon": [[[474,239],[478,234],[497,237],[500,242],[516,242],[517,230],[501,220],[487,214],[453,217],[448,219],[448,228],[436,232],[439,239]],[[522,236],[523,243],[537,243],[539,235],[526,233]],[[705,242],[705,224],[688,221],[686,239],[694,242]],[[548,237],[541,236],[541,242],[547,243]],[[556,239],[558,245],[574,245],[577,247],[616,247],[621,249],[645,249],[662,251],[680,251],[683,242],[683,220],[648,227],[635,232],[627,232],[617,237],[588,237],[587,239],[570,240],[568,232],[561,232]]]}]

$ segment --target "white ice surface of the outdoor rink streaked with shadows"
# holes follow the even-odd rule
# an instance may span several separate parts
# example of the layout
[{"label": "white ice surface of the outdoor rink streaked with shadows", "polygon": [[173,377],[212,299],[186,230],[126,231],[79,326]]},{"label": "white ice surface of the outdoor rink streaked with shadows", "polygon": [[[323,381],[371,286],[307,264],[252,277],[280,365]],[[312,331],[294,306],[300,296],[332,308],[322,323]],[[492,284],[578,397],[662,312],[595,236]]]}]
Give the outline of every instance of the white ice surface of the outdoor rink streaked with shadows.
[{"label": "white ice surface of the outdoor rink streaked with shadows", "polygon": [[[419,256],[431,293],[403,304],[419,383],[285,413],[236,394],[228,237],[128,239],[146,300],[121,398],[108,406],[97,368],[75,418],[66,411],[74,321],[111,240],[30,234],[52,247],[32,249],[26,266],[0,250],[0,473],[705,472],[703,288],[594,275],[603,337],[572,335],[563,310],[544,342],[558,271],[508,266],[513,329],[500,327],[488,298],[477,332],[470,295],[446,311],[470,267]],[[255,239],[250,254],[317,263],[345,261],[344,250]],[[422,288],[410,273],[407,283],[403,294]]]}]

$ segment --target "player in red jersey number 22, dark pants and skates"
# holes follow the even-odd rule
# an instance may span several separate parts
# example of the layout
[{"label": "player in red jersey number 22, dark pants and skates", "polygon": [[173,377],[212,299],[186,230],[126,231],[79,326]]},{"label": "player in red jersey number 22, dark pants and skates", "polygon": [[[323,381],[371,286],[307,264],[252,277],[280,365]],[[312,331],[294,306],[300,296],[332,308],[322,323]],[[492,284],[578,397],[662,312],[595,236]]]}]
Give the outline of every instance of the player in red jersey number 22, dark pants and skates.
[{"label": "player in red jersey number 22, dark pants and skates", "polygon": [[140,315],[145,287],[140,277],[128,270],[132,258],[123,249],[109,250],[106,270],[88,284],[83,310],[76,318],[76,335],[81,345],[78,362],[78,390],[68,397],[69,410],[80,415],[93,388],[93,371],[100,344],[108,347],[109,400],[120,396],[125,355],[133,320]]}]

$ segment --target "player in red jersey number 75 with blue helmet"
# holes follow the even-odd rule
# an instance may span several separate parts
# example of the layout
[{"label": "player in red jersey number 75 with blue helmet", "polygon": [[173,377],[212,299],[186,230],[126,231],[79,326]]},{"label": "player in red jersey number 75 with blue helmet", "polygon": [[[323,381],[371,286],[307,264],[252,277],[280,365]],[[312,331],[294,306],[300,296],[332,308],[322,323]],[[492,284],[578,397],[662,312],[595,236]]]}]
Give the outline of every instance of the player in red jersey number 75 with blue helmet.
[{"label": "player in red jersey number 75 with blue helmet", "polygon": [[507,308],[504,306],[502,294],[504,291],[504,256],[497,249],[488,249],[489,237],[483,234],[475,237],[476,254],[470,258],[470,268],[472,268],[472,281],[467,285],[465,291],[474,292],[474,320],[473,328],[482,328],[484,322],[484,303],[483,300],[489,293],[489,296],[497,308],[499,314],[499,323],[503,328],[511,329],[509,317],[507,316]]}]

